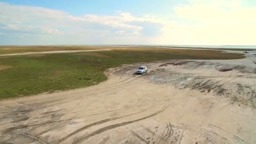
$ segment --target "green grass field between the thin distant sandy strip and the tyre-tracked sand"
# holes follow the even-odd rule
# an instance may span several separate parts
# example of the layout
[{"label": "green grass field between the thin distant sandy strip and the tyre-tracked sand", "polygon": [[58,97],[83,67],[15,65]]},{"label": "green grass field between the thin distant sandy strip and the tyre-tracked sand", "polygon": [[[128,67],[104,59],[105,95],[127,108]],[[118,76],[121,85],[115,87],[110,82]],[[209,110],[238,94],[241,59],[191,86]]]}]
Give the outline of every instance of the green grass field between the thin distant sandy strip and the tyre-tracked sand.
[{"label": "green grass field between the thin distant sandy strip and the tyre-tracked sand", "polygon": [[221,53],[219,51],[154,48],[111,49],[113,50],[0,56],[0,98],[28,96],[43,92],[54,92],[96,85],[107,79],[104,75],[105,69],[117,67],[121,64],[166,59],[244,58],[243,54]]}]

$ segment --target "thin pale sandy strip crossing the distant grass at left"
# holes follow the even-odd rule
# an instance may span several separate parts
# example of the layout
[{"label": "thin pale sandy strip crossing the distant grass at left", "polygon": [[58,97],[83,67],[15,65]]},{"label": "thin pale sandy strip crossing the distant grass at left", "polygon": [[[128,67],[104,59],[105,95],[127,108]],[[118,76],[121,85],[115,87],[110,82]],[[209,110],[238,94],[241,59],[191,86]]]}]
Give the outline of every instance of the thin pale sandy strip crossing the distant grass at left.
[{"label": "thin pale sandy strip crossing the distant grass at left", "polygon": [[51,54],[51,53],[80,53],[80,52],[91,52],[91,51],[111,51],[111,50],[99,49],[99,50],[75,50],[75,51],[42,51],[42,52],[0,54],[0,56],[19,56],[19,55]]}]

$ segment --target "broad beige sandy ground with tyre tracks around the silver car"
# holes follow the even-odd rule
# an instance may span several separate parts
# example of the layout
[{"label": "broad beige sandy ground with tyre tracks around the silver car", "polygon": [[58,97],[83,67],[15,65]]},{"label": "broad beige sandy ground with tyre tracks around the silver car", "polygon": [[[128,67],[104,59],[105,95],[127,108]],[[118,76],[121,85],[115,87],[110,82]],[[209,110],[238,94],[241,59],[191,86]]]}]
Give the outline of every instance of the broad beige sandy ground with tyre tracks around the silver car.
[{"label": "broad beige sandy ground with tyre tracks around the silver car", "polygon": [[[0,101],[0,141],[256,144],[256,56],[246,56],[124,65],[99,85]],[[134,74],[141,65],[147,74]]]}]

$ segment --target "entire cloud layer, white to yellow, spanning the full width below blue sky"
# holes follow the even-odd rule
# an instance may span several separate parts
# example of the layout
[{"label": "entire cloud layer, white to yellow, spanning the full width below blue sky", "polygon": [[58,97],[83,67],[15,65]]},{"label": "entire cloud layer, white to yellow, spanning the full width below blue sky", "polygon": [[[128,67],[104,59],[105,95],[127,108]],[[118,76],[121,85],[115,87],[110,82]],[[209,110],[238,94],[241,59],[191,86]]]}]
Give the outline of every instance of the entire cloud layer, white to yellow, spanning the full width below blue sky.
[{"label": "entire cloud layer, white to yellow, spanning the full width below blue sky", "polygon": [[0,2],[0,44],[256,45],[256,7],[243,8],[238,0],[189,0],[173,10],[166,15],[175,21],[123,11],[73,16]]}]

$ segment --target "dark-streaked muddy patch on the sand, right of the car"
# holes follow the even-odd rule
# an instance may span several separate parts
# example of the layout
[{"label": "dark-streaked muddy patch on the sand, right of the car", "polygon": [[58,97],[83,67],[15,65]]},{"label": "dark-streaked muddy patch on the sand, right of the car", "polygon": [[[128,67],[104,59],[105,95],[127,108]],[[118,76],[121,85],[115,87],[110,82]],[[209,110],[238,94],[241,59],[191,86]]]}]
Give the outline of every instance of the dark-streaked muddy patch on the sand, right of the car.
[{"label": "dark-streaked muddy patch on the sand, right of the car", "polygon": [[[182,67],[179,67],[179,70],[176,71],[176,67],[172,67],[176,65],[182,65]],[[220,72],[233,70],[234,73],[220,74],[216,73],[216,71],[213,71],[213,73],[208,71],[205,74],[203,69],[217,69]],[[235,65],[211,61],[170,61],[160,64],[152,70],[149,80],[171,84],[178,89],[188,88],[205,94],[211,93],[213,96],[228,98],[231,104],[242,104],[255,108],[256,94],[253,89],[255,85],[253,83],[245,84],[247,78],[253,80],[255,77],[253,76],[253,69],[255,68],[246,67],[244,64]],[[202,75],[198,73],[200,71]],[[235,72],[240,74],[235,74]],[[240,78],[243,83],[240,83],[240,80],[235,78]]]}]

